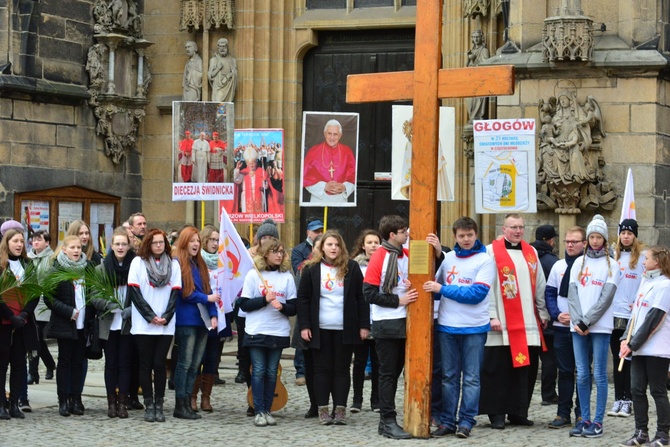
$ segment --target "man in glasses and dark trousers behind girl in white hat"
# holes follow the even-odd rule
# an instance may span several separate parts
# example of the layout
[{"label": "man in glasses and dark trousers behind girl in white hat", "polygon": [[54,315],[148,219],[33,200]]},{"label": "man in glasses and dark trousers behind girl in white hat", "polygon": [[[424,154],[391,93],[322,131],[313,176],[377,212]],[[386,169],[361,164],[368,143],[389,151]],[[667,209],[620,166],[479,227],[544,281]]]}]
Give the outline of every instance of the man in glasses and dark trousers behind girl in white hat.
[{"label": "man in glasses and dark trousers behind girl in white hat", "polygon": [[[572,227],[566,234],[565,259],[561,259],[549,273],[545,297],[547,309],[554,327],[554,354],[558,365],[558,409],[549,428],[572,425],[572,395],[575,390],[575,355],[570,335],[570,313],[568,310],[568,286],[572,264],[584,253],[586,232],[582,227]],[[576,395],[576,393],[575,393]],[[575,424],[581,420],[579,398],[575,398]]]}]

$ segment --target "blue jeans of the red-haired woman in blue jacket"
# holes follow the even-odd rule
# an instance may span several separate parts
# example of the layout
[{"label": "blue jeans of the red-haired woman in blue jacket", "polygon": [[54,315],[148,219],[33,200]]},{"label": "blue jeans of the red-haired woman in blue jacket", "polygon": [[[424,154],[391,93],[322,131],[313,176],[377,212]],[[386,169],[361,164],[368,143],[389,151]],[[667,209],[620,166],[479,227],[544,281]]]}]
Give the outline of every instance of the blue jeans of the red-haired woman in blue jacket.
[{"label": "blue jeans of the red-haired woman in blue jacket", "polygon": [[179,351],[174,374],[175,397],[184,399],[193,391],[195,376],[200,369],[202,355],[207,345],[207,328],[204,325],[177,326],[174,335]]}]

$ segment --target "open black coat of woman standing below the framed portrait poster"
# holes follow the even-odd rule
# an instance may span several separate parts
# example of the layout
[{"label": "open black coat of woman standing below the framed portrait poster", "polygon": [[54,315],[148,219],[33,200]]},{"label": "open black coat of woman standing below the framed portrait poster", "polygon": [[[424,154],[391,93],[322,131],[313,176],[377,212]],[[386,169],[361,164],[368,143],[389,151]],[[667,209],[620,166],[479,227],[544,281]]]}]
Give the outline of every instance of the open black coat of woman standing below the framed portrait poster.
[{"label": "open black coat of woman standing below the framed portrait poster", "polygon": [[[298,325],[300,330],[310,329],[311,349],[319,349],[319,302],[321,300],[321,264],[313,264],[302,270],[298,286]],[[370,305],[363,298],[363,273],[358,263],[349,260],[344,276],[344,327],[342,339],[345,344],[361,344],[361,329],[370,329]]]}]

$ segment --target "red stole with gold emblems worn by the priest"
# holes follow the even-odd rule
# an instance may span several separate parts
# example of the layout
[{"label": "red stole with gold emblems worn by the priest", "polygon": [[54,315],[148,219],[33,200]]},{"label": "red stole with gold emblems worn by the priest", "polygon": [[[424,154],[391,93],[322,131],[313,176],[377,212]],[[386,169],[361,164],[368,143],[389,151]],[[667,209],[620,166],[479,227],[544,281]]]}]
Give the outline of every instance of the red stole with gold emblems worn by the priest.
[{"label": "red stole with gold emblems worn by the priest", "polygon": [[[526,339],[526,323],[523,319],[523,308],[521,306],[519,282],[515,270],[516,267],[512,261],[512,257],[505,248],[504,239],[493,241],[491,246],[496,261],[496,268],[498,269],[498,281],[500,282],[500,293],[502,295],[503,308],[505,310],[512,365],[515,368],[529,366],[530,357],[528,355],[528,341]],[[521,241],[521,252],[523,253],[523,257],[528,266],[530,288],[533,294],[533,307],[535,307],[535,286],[539,261],[533,247],[524,241]],[[539,325],[539,321],[537,321],[537,315],[535,320],[538,324],[542,349],[546,350],[544,338],[542,337],[542,328]]]}]

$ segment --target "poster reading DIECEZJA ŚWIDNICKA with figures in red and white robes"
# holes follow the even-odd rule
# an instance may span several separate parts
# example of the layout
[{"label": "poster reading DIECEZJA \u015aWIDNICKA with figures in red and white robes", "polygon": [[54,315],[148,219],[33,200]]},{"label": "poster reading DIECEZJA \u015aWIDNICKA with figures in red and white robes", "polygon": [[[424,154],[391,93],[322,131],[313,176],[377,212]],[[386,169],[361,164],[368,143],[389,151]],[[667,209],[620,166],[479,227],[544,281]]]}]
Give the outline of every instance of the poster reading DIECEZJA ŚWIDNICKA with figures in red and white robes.
[{"label": "poster reading DIECEZJA \u015aWIDNICKA with figures in red and white robes", "polygon": [[172,103],[172,200],[232,198],[234,105]]}]

